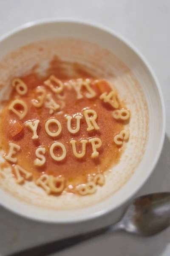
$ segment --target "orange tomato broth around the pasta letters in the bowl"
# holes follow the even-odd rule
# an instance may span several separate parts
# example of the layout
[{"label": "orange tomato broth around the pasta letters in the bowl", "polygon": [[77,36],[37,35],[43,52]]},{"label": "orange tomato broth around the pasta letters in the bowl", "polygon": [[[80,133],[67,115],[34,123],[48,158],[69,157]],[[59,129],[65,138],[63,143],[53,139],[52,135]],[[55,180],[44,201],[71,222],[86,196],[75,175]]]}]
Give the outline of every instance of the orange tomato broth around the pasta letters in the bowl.
[{"label": "orange tomato broth around the pasta letters in the bowl", "polygon": [[[55,70],[53,72],[55,74]],[[48,76],[49,77],[49,76]],[[22,166],[28,172],[33,174],[34,180],[42,174],[53,175],[57,177],[61,175],[65,177],[66,184],[65,189],[74,188],[75,186],[86,183],[88,175],[97,174],[99,172],[105,172],[110,169],[115,163],[118,162],[121,156],[121,148],[119,148],[115,143],[113,143],[113,137],[119,134],[123,130],[123,123],[118,122],[113,119],[112,112],[113,108],[106,103],[103,103],[99,96],[107,91],[111,91],[111,87],[105,80],[92,79],[91,87],[96,91],[96,97],[94,99],[87,99],[85,97],[85,92],[82,90],[83,98],[77,99],[77,93],[74,88],[68,89],[67,86],[64,87],[65,106],[62,109],[55,111],[53,114],[49,113],[48,108],[42,107],[36,108],[31,104],[32,99],[36,99],[36,88],[38,86],[43,86],[47,93],[51,93],[53,99],[57,104],[62,105],[62,100],[57,99],[56,95],[50,90],[49,87],[43,84],[45,79],[38,76],[36,73],[31,73],[28,76],[20,77],[28,87],[28,92],[20,96],[14,89],[11,93],[10,100],[7,102],[6,107],[3,109],[0,115],[0,144],[5,154],[9,151],[9,142],[20,145],[21,149],[17,152],[17,164]],[[82,77],[82,76],[81,76]],[[67,82],[68,77],[60,78],[61,81]],[[80,78],[80,77],[79,77]],[[85,77],[89,78],[89,77]],[[8,110],[8,106],[11,101],[16,97],[22,99],[28,106],[28,113],[23,119]],[[80,120],[80,129],[76,134],[71,134],[67,128],[67,119],[65,115],[73,116],[77,113],[83,115],[83,109],[93,109],[97,113],[96,122],[99,125],[99,130],[87,131],[87,124],[85,122],[85,117],[83,116]],[[59,111],[63,111],[59,113]],[[62,125],[62,132],[58,137],[50,137],[45,131],[45,122],[49,118],[56,118]],[[35,119],[40,119],[40,123],[37,128],[37,134],[39,138],[37,140],[32,140],[32,131],[25,126],[26,121],[33,121]],[[72,125],[74,126],[74,119],[72,119]],[[16,122],[17,121],[17,122]],[[73,127],[72,127],[73,128]],[[56,131],[56,126],[50,126],[51,131]],[[81,139],[88,140],[91,137],[99,137],[102,140],[102,146],[97,149],[99,151],[99,156],[97,158],[91,158],[92,146],[91,143],[86,144],[86,154],[84,157],[77,159],[73,154],[72,145],[70,140],[76,140],[77,152],[82,151]],[[61,142],[65,145],[67,154],[64,160],[56,162],[52,159],[49,148],[54,142]],[[46,162],[43,166],[35,166],[34,160],[36,159],[35,151],[38,147],[45,147],[45,158]],[[60,154],[61,151],[54,150],[55,154]]]}]

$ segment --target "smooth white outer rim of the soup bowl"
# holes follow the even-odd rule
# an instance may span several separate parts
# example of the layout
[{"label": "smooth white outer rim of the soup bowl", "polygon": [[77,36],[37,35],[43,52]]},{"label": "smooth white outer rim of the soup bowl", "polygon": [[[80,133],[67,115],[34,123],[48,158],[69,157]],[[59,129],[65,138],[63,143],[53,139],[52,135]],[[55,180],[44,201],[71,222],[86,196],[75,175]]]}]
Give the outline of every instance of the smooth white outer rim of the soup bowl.
[{"label": "smooth white outer rim of the soup bowl", "polygon": [[[165,137],[165,105],[164,105],[164,98],[163,98],[163,94],[161,91],[161,86],[159,84],[159,81],[152,69],[152,67],[150,66],[150,64],[148,63],[148,61],[146,60],[146,58],[142,55],[142,53],[129,41],[127,40],[124,36],[120,35],[119,32],[114,31],[113,29],[110,29],[106,26],[103,26],[100,23],[96,23],[94,21],[91,20],[85,20],[85,19],[76,19],[76,18],[45,18],[45,19],[40,19],[40,20],[34,20],[28,23],[24,23],[23,25],[18,26],[17,28],[14,28],[12,30],[10,30],[9,32],[3,34],[2,36],[0,36],[0,43],[7,39],[8,37],[14,35],[17,32],[21,32],[22,30],[25,30],[27,28],[33,27],[33,26],[37,26],[37,25],[43,25],[43,24],[48,24],[48,23],[76,23],[76,24],[82,24],[82,25],[87,25],[87,26],[91,26],[94,27],[94,29],[99,29],[102,30],[104,32],[108,32],[110,35],[112,35],[113,37],[116,37],[118,40],[122,41],[125,45],[127,45],[133,52],[135,52],[135,54],[143,61],[144,65],[147,67],[147,70],[150,72],[150,75],[152,76],[155,85],[158,89],[159,92],[159,97],[160,97],[160,101],[161,101],[161,111],[162,111],[162,130],[161,130],[161,139],[159,142],[159,147],[158,150],[156,152],[156,155],[154,157],[154,161],[152,163],[152,165],[150,167],[148,167],[148,172],[147,175],[143,178],[142,181],[140,181],[140,183],[138,184],[138,186],[136,186],[136,188],[134,190],[131,190],[129,194],[125,195],[124,198],[122,198],[122,201],[120,201],[119,203],[117,203],[115,206],[111,205],[110,207],[107,207],[106,209],[102,209],[100,211],[88,214],[87,216],[76,216],[77,218],[73,219],[73,218],[59,218],[59,219],[50,219],[50,216],[38,216],[35,215],[34,213],[30,214],[30,212],[20,212],[20,209],[14,209],[13,207],[11,207],[9,204],[7,204],[6,202],[0,202],[0,205],[5,207],[6,209],[10,210],[11,212],[20,215],[21,217],[25,217],[34,221],[42,221],[42,222],[46,222],[46,223],[58,223],[58,224],[66,224],[66,223],[79,223],[79,222],[83,222],[83,221],[88,221],[88,220],[92,220],[94,218],[98,218],[102,215],[106,215],[107,213],[117,209],[118,207],[122,206],[123,204],[125,204],[125,202],[127,202],[128,200],[130,200],[130,198],[133,197],[133,195],[136,194],[136,192],[139,191],[139,189],[144,185],[144,183],[146,183],[146,181],[149,179],[150,175],[153,173],[153,170],[156,167],[156,164],[159,160],[160,154],[161,154],[161,150],[163,148],[164,145],[164,137]],[[5,192],[6,193],[6,192]],[[10,195],[9,195],[10,196]],[[75,209],[76,211],[76,209]]]}]

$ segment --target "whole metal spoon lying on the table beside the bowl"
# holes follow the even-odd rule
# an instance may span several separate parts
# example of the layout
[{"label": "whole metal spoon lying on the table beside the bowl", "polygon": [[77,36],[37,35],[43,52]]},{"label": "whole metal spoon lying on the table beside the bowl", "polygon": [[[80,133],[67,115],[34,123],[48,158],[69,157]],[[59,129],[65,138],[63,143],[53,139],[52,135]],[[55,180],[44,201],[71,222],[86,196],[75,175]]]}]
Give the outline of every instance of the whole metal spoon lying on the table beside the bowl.
[{"label": "whole metal spoon lying on the table beside the bowl", "polygon": [[142,236],[153,236],[170,225],[170,192],[155,193],[136,198],[123,218],[116,224],[100,230],[80,234],[40,245],[9,256],[47,256],[94,236],[116,230],[125,230]]}]

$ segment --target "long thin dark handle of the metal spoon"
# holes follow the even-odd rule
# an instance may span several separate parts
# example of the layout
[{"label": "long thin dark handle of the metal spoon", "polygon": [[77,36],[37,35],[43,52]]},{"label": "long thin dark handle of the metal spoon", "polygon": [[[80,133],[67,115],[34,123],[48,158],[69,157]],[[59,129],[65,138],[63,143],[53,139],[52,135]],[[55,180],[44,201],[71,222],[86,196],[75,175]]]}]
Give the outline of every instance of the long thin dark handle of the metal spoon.
[{"label": "long thin dark handle of the metal spoon", "polygon": [[92,237],[102,235],[103,233],[107,233],[110,230],[109,227],[102,228],[97,231],[92,231],[90,233],[86,233],[83,235],[73,236],[66,239],[61,239],[58,241],[50,242],[48,244],[39,245],[36,247],[32,247],[30,249],[26,249],[17,253],[12,253],[8,256],[47,256],[51,253],[57,253],[60,250],[71,247],[75,244],[78,244],[82,241],[88,240]]}]

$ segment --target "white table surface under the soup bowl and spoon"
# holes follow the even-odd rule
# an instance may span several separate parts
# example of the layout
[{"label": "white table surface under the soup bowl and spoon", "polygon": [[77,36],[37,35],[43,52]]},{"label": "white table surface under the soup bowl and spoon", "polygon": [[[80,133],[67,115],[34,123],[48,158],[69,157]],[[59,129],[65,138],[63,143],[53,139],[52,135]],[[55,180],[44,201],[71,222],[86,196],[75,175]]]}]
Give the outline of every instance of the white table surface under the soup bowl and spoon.
[{"label": "white table surface under the soup bowl and spoon", "polygon": [[[163,91],[166,137],[155,171],[138,195],[170,190],[170,0],[0,0],[0,35],[23,23],[49,17],[88,19],[108,26],[135,44],[150,62]],[[116,221],[120,212],[122,208],[114,215],[63,226],[30,221],[0,207],[0,256],[104,226]],[[53,256],[169,256],[170,252],[165,252],[165,248],[170,249],[169,243],[170,228],[151,238],[114,233]]]}]

